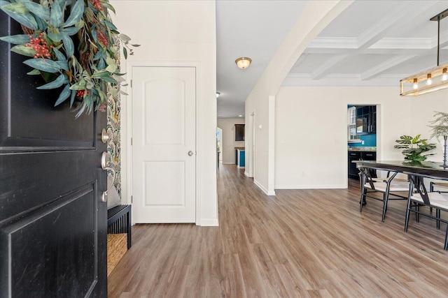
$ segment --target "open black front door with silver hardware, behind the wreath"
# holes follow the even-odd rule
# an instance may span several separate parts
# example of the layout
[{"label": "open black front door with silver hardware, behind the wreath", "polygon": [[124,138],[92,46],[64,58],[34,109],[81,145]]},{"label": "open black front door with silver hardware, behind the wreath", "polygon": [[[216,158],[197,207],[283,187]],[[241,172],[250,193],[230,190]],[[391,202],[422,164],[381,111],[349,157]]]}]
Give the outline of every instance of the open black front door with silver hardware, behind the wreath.
[{"label": "open black front door with silver hardware, behind the wreath", "polygon": [[24,58],[0,41],[0,297],[106,297],[106,114],[53,107]]}]

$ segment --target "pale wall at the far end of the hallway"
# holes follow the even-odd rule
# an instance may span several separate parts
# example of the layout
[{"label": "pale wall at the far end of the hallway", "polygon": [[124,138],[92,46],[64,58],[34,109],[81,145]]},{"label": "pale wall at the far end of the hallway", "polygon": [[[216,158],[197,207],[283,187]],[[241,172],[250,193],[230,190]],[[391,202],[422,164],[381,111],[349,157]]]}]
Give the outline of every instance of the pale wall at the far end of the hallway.
[{"label": "pale wall at the far end of the hallway", "polygon": [[244,141],[235,141],[235,124],[244,124],[244,118],[218,119],[218,127],[223,130],[223,163],[235,164],[235,147],[245,147]]}]

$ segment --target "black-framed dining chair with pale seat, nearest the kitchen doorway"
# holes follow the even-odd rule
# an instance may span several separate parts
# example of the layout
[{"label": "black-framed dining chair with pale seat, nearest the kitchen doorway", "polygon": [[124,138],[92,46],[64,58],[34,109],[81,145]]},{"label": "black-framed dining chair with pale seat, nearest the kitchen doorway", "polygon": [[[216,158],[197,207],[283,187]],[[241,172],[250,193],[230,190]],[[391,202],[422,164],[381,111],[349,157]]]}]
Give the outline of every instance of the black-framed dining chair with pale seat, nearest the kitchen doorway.
[{"label": "black-framed dining chair with pale seat, nearest the kitchen doorway", "polygon": [[[381,221],[384,222],[384,219],[386,218],[388,200],[407,200],[409,182],[404,179],[395,179],[398,172],[391,172],[391,170],[382,169],[380,167],[358,165],[358,169],[360,170],[359,174],[361,186],[359,211],[363,211],[363,206],[366,204],[366,198],[380,200],[383,202],[383,214]],[[375,176],[378,176],[378,172],[386,172],[386,177],[372,177],[372,173],[376,173]],[[374,196],[374,193],[382,193],[382,198]]]}]

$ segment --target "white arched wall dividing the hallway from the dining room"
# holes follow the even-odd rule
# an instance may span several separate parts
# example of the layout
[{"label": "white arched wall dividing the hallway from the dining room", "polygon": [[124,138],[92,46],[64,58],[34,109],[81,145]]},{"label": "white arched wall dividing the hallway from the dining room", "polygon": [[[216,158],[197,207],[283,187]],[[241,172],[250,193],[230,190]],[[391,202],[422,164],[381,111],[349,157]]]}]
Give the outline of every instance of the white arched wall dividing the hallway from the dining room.
[{"label": "white arched wall dividing the hallway from the dining room", "polygon": [[[246,119],[255,112],[255,172],[253,181],[268,195],[275,195],[274,106],[281,82],[309,42],[353,1],[308,1],[302,14],[246,98]],[[247,138],[252,146],[252,135]],[[246,163],[251,158],[246,154]]]}]

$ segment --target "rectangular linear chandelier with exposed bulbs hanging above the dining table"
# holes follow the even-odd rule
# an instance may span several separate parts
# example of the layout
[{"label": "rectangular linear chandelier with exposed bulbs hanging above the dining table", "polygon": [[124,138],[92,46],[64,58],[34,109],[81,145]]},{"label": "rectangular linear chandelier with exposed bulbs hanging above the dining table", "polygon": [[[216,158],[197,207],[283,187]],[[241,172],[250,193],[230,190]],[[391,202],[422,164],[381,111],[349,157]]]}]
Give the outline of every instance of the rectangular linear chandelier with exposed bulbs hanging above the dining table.
[{"label": "rectangular linear chandelier with exposed bulbs hanging above the dining table", "polygon": [[439,66],[440,20],[448,16],[448,9],[430,18],[437,21],[437,67],[400,80],[400,96],[419,96],[448,88],[448,64]]}]

